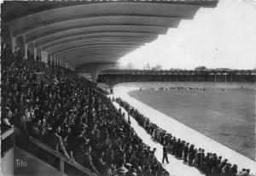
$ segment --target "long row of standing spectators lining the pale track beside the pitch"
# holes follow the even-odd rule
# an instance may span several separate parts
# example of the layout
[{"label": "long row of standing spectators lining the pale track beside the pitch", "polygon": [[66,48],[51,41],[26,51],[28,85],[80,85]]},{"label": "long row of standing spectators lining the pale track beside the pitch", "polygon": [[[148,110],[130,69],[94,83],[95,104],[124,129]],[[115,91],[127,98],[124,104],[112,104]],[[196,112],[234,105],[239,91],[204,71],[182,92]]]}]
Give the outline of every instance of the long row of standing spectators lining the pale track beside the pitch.
[{"label": "long row of standing spectators lining the pale track beside the pitch", "polygon": [[[238,172],[237,165],[232,165],[228,159],[222,158],[222,156],[218,156],[216,153],[205,152],[202,148],[195,148],[195,145],[172,136],[171,133],[167,133],[166,130],[150,122],[146,116],[143,116],[143,114],[124,100],[118,98],[116,101],[128,112],[128,116],[133,116],[138,124],[152,136],[152,139],[163,145],[172,156],[182,159],[189,166],[198,168],[202,173],[206,173],[207,176],[250,175],[249,169],[242,168],[241,172]],[[165,159],[166,156],[164,155],[162,162]],[[168,162],[168,159],[166,161]]]}]

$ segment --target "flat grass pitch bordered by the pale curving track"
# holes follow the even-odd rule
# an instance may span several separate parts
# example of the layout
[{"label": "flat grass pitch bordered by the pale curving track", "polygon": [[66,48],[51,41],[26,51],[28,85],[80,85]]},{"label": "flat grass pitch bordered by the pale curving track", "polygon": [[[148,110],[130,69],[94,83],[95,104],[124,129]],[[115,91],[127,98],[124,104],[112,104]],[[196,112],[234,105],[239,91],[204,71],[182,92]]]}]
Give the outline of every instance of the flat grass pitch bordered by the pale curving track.
[{"label": "flat grass pitch bordered by the pale curving track", "polygon": [[[214,83],[201,82],[148,82],[137,86],[146,89],[131,91],[132,97],[255,160],[253,84],[228,83],[227,92],[223,92],[223,83],[217,85],[216,92]],[[152,89],[175,86],[207,88],[207,91]]]}]

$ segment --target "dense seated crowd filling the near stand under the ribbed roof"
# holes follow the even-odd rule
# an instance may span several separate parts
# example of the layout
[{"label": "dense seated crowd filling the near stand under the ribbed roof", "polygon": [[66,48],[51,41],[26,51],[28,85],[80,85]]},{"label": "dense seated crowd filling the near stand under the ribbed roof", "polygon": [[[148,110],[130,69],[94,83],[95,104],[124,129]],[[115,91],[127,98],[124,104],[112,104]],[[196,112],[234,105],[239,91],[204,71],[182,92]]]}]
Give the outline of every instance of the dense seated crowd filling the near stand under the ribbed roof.
[{"label": "dense seated crowd filling the near stand under the ribbed roof", "polygon": [[2,133],[19,128],[96,175],[169,174],[96,84],[1,47]]}]

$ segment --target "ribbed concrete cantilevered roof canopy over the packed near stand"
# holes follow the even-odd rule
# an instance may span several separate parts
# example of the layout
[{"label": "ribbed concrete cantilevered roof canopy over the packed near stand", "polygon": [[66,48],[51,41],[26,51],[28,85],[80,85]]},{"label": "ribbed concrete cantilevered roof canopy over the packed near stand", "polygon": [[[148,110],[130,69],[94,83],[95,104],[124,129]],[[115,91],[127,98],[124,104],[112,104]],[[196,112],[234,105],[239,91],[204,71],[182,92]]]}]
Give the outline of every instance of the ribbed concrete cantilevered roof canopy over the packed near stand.
[{"label": "ribbed concrete cantilevered roof canopy over the packed near stand", "polygon": [[115,62],[218,0],[4,2],[2,26],[74,67]]}]

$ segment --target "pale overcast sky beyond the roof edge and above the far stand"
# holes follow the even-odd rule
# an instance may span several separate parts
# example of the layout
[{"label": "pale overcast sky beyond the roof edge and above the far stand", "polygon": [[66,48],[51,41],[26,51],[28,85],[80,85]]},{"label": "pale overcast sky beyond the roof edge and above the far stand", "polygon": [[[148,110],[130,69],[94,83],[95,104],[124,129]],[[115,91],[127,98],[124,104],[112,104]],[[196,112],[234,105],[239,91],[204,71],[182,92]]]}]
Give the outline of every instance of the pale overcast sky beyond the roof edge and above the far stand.
[{"label": "pale overcast sky beyond the roof edge and above the far stand", "polygon": [[125,55],[121,65],[137,69],[160,64],[163,69],[256,68],[256,1],[220,0],[214,9],[201,8],[194,20]]}]

